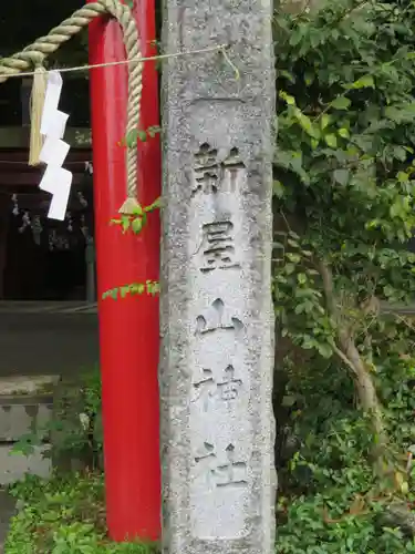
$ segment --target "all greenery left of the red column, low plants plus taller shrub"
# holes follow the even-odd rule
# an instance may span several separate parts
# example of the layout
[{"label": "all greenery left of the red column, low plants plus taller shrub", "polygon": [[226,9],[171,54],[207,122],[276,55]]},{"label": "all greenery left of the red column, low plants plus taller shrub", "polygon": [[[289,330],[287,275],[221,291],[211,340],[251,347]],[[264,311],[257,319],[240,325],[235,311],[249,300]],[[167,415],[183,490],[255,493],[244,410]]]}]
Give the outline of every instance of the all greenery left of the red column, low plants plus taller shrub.
[{"label": "all greenery left of the red column, low plants plus taller shrub", "polygon": [[[106,534],[102,473],[102,413],[98,368],[56,394],[48,429],[22,437],[15,450],[30,454],[52,433],[56,464],[50,480],[28,475],[11,488],[18,503],[4,548],[8,554],[152,554],[156,545],[114,544]],[[80,471],[74,471],[77,468]]]}]

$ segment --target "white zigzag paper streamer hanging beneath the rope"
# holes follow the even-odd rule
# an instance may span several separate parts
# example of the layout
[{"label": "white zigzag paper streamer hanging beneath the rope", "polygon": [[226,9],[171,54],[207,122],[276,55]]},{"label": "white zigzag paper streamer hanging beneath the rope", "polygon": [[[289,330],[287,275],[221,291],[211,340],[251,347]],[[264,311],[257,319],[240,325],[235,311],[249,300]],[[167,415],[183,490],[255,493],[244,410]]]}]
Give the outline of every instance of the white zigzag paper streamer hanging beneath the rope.
[{"label": "white zigzag paper streamer hanging beneath the rope", "polygon": [[44,136],[40,161],[46,170],[39,188],[52,194],[48,217],[63,220],[65,218],[71,193],[72,173],[62,167],[70,145],[62,141],[69,114],[61,112],[59,101],[62,93],[62,76],[59,71],[51,71],[44,99],[40,131]]}]

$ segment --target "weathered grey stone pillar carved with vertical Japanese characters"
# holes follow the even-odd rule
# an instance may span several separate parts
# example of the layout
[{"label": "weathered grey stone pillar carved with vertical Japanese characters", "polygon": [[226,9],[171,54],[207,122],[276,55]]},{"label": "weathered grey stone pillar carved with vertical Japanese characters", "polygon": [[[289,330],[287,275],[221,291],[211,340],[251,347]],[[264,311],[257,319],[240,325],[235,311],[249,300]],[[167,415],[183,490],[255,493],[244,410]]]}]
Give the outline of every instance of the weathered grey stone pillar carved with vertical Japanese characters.
[{"label": "weathered grey stone pillar carved with vertical Japanese characters", "polygon": [[271,0],[167,0],[164,552],[274,551]]}]

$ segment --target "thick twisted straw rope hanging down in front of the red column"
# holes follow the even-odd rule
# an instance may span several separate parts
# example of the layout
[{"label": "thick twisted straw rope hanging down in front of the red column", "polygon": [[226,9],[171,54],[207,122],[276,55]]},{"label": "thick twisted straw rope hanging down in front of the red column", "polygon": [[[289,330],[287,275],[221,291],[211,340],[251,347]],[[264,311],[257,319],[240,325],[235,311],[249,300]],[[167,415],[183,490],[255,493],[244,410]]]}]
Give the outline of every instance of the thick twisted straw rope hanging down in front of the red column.
[{"label": "thick twisted straw rope hanging down in front of the red column", "polygon": [[[105,13],[114,17],[123,29],[124,45],[128,60],[128,103],[126,135],[137,129],[141,116],[141,101],[143,92],[143,63],[141,43],[137,27],[133,13],[128,6],[120,0],[97,0],[80,10],[76,10],[69,19],[62,21],[59,27],[52,29],[49,34],[37,39],[21,52],[0,60],[0,83],[10,76],[28,71],[31,68],[39,68],[43,64],[48,55],[55,52],[61,44],[69,41],[74,34],[87,27],[98,16]],[[126,194],[120,212],[133,215],[138,207],[137,193],[137,150],[127,148],[126,153]]]}]

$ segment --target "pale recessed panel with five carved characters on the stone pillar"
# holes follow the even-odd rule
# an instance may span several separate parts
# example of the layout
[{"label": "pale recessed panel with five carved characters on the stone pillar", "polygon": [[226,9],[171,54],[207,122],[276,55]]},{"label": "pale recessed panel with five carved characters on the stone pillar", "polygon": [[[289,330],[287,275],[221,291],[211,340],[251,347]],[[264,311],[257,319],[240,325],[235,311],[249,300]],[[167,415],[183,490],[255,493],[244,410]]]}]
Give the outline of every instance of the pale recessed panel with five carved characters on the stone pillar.
[{"label": "pale recessed panel with five carved characters on the stone pillar", "polygon": [[[248,502],[249,384],[241,298],[241,213],[246,167],[237,148],[205,143],[195,155],[193,198],[196,297],[211,300],[195,317],[191,381],[193,531],[196,537],[245,536]],[[214,296],[215,295],[215,296]],[[248,438],[247,438],[248,437]],[[200,445],[201,444],[201,445]]]}]

